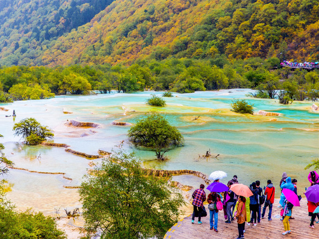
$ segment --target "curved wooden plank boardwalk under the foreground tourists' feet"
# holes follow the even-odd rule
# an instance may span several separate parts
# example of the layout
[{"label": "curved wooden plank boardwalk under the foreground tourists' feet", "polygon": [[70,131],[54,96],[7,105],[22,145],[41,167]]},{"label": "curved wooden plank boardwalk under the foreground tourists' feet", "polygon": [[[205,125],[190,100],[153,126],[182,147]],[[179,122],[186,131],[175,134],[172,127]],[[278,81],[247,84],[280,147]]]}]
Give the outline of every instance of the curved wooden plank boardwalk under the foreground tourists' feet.
[{"label": "curved wooden plank boardwalk under the foreground tourists' feet", "polygon": [[[284,232],[283,222],[280,221],[279,199],[275,199],[272,211],[272,221],[268,221],[268,209],[266,209],[265,219],[254,226],[245,225],[245,239],[319,239],[319,223],[315,223],[315,229],[309,228],[310,217],[308,216],[308,206],[306,198],[301,200],[301,207],[293,208],[293,217],[290,220],[291,234],[282,235]],[[168,230],[164,239],[236,239],[238,237],[237,221],[226,224],[224,213],[218,213],[218,233],[209,230],[209,211],[207,205],[207,217],[202,218],[202,224],[191,224],[191,215],[176,223]],[[317,219],[318,220],[318,219]]]}]

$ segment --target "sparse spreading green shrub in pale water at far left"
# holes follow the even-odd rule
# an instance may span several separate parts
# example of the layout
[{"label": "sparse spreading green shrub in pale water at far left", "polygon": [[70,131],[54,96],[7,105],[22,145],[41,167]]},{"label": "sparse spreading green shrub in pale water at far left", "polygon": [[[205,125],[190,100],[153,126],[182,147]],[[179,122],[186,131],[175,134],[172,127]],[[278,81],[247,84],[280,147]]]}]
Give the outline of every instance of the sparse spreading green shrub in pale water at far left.
[{"label": "sparse spreading green shrub in pale water at far left", "polygon": [[30,145],[39,144],[46,138],[53,138],[54,134],[48,126],[42,126],[34,118],[22,119],[13,126],[15,135],[21,135],[25,142]]}]

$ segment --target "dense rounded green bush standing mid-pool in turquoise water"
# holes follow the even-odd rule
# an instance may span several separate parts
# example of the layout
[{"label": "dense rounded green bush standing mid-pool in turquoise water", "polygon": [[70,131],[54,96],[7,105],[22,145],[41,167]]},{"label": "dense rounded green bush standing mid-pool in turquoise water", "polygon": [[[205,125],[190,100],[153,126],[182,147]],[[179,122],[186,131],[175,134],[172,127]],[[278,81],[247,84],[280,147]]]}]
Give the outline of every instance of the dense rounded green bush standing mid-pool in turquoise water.
[{"label": "dense rounded green bush standing mid-pool in turquoise water", "polygon": [[171,147],[182,145],[184,137],[176,127],[159,114],[151,114],[145,119],[139,119],[136,125],[129,129],[128,136],[136,145],[151,148],[158,159],[165,159],[164,153]]}]

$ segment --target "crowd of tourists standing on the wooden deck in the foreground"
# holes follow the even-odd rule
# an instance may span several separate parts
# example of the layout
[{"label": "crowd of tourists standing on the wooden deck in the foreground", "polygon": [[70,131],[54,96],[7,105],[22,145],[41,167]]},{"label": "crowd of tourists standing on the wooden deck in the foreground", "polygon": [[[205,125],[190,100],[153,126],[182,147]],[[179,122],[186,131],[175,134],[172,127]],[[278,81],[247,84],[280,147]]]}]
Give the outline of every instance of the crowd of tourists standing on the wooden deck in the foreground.
[{"label": "crowd of tourists standing on the wooden deck in the foreground", "polygon": [[[319,184],[319,175],[316,171],[312,171],[309,173],[308,180],[311,183],[310,186]],[[214,180],[214,182],[219,182],[218,180]],[[291,177],[287,176],[287,173],[284,172],[282,174],[282,179],[280,181],[280,189],[288,189],[297,194],[297,179],[291,179]],[[256,227],[257,224],[261,222],[261,219],[265,218],[266,209],[269,209],[268,212],[268,221],[272,221],[272,209],[275,199],[275,187],[271,180],[267,181],[267,186],[264,187],[264,190],[260,187],[260,181],[253,182],[249,188],[252,192],[252,196],[243,197],[237,196],[230,188],[233,184],[238,184],[237,176],[234,175],[231,180],[228,181],[227,186],[229,188],[226,192],[211,192],[207,196],[207,202],[209,204],[209,215],[210,215],[210,230],[214,230],[216,233],[218,232],[218,212],[219,210],[223,210],[225,223],[230,224],[235,219],[237,219],[238,224],[238,238],[244,239],[245,233],[245,223],[247,222],[247,226],[251,226],[252,224]],[[193,214],[192,221],[194,223],[195,217],[198,217],[198,224],[202,224],[201,217],[205,217],[207,215],[205,207],[203,203],[206,201],[206,193],[204,191],[204,185],[201,184],[199,189],[196,189],[193,194]],[[306,188],[307,190],[307,188]],[[319,192],[318,192],[319,193]],[[305,192],[304,192],[305,194]],[[301,200],[301,196],[298,196],[299,201]],[[261,208],[263,206],[263,210]],[[281,194],[280,202],[278,208],[282,208],[281,210],[281,221],[284,225],[284,232],[282,235],[291,234],[289,221],[290,219],[295,219],[293,214],[294,205],[289,202],[284,193]],[[319,209],[319,202],[314,203],[308,201],[308,212],[311,217],[310,228],[315,228],[314,223],[316,221],[316,217],[319,223],[319,213],[315,212],[315,210]]]}]

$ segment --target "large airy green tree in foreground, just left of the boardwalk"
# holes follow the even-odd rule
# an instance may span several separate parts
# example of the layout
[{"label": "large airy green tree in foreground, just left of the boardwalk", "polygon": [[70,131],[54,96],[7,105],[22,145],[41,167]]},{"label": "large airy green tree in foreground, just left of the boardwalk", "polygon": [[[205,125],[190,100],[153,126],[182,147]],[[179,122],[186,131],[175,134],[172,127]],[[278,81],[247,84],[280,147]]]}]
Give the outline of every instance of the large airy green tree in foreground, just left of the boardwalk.
[{"label": "large airy green tree in foreground, just left of the boardwalk", "polygon": [[181,194],[167,179],[146,175],[134,153],[115,152],[85,178],[79,189],[85,228],[101,230],[102,239],[163,238],[178,220]]}]

